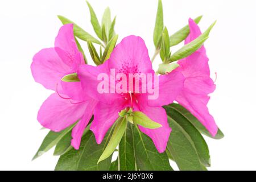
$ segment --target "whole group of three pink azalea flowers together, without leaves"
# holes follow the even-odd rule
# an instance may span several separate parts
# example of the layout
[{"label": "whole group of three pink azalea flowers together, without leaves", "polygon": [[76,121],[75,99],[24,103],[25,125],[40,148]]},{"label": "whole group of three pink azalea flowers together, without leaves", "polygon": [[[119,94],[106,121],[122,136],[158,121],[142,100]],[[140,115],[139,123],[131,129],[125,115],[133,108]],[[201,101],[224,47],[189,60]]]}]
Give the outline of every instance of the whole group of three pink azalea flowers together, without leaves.
[{"label": "whole group of three pink azalea flowers together, without leaves", "polygon": [[[190,34],[185,44],[201,35],[200,28],[192,19],[189,19],[189,28]],[[35,81],[55,91],[40,107],[38,121],[56,132],[77,122],[72,129],[71,144],[79,149],[82,134],[92,115],[94,119],[90,130],[100,144],[119,117],[118,112],[132,107],[134,111],[142,111],[152,121],[162,125],[158,129],[142,126],[139,129],[153,140],[159,152],[164,152],[171,128],[162,106],[177,101],[191,111],[210,134],[216,135],[218,127],[207,108],[208,94],[214,91],[215,85],[210,78],[205,48],[201,47],[191,56],[178,61],[178,64],[180,67],[171,73],[158,76],[159,97],[156,100],[148,100],[147,93],[99,93],[97,86],[100,80],[97,76],[100,73],[110,75],[110,69],[115,69],[115,73],[155,74],[147,47],[142,38],[127,36],[114,48],[109,60],[94,67],[84,63],[75,42],[73,25],[65,24],[55,39],[55,47],[36,53],[31,64]],[[80,81],[61,81],[63,76],[70,73],[77,73]]]}]

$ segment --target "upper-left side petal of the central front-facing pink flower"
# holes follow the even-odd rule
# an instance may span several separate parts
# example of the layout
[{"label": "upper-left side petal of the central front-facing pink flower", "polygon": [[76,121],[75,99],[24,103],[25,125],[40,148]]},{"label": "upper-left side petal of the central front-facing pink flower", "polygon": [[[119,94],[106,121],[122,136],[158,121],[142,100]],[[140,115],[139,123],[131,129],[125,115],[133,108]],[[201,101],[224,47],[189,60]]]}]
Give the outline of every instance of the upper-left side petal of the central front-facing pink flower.
[{"label": "upper-left side petal of the central front-facing pink flower", "polygon": [[[98,85],[102,80],[98,80],[98,75],[105,74],[108,76],[109,93],[100,93],[98,92]],[[105,104],[112,104],[117,98],[122,97],[121,94],[110,93],[110,70],[109,70],[109,61],[105,61],[104,64],[98,65],[97,67],[93,67],[92,65],[81,65],[77,75],[79,76],[82,89],[86,90],[88,96],[92,97],[94,100],[104,102]]]}]

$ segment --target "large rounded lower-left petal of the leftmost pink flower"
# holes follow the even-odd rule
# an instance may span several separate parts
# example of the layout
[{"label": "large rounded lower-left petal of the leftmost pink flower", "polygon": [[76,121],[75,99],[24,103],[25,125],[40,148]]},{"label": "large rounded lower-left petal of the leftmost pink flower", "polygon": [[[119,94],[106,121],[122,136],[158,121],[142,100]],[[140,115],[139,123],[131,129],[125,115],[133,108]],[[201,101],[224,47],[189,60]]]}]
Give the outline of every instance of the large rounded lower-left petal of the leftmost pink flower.
[{"label": "large rounded lower-left petal of the leftmost pink flower", "polygon": [[79,120],[86,109],[86,103],[71,104],[71,100],[51,94],[38,111],[38,121],[42,126],[59,132]]}]

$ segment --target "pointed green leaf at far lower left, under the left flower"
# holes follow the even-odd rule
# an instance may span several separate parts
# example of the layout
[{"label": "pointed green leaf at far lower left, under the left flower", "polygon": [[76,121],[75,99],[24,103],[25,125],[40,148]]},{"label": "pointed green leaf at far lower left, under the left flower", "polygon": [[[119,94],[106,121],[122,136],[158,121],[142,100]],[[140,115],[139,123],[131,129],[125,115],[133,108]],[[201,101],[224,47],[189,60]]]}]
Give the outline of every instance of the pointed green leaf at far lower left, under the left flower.
[{"label": "pointed green leaf at far lower left, under the left flower", "polygon": [[34,159],[38,158],[39,156],[43,155],[45,152],[47,152],[53,146],[55,146],[55,144],[57,144],[60,141],[61,138],[63,138],[69,131],[71,131],[71,129],[73,128],[74,125],[68,127],[67,129],[65,129],[63,131],[60,131],[58,133],[53,132],[53,131],[49,131],[49,133],[44,138],[41,146],[39,147],[38,151],[36,152],[36,154],[35,154],[35,156],[32,160],[34,160]]}]

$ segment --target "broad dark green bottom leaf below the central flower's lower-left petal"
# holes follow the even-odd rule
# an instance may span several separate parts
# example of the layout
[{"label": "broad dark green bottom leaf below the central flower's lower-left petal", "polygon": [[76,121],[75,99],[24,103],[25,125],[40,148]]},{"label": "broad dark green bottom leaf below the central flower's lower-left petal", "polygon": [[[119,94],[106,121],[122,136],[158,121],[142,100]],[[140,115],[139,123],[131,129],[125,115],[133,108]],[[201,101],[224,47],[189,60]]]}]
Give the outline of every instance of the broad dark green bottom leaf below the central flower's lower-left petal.
[{"label": "broad dark green bottom leaf below the central flower's lower-left petal", "polygon": [[68,151],[60,156],[55,167],[56,171],[108,171],[111,164],[111,157],[97,164],[106,144],[109,141],[109,131],[101,144],[97,144],[92,131],[88,131],[81,140],[79,150]]}]

